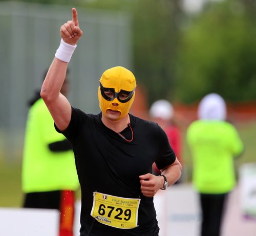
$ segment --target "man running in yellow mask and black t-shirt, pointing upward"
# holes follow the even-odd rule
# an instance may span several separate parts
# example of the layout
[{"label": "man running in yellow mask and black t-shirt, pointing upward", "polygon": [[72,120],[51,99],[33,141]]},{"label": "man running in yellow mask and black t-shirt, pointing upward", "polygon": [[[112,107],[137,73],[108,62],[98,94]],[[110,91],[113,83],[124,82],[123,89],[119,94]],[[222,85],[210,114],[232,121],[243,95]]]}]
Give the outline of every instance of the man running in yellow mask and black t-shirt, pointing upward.
[{"label": "man running in yellow mask and black t-shirt, pointing upward", "polygon": [[[101,112],[87,114],[60,93],[68,63],[82,36],[76,9],[60,27],[61,42],[41,87],[58,132],[70,141],[81,185],[80,236],[159,233],[153,197],[181,176],[181,164],[158,124],[129,113],[136,80],[121,66],[100,78]],[[161,175],[152,174],[155,162]]]}]

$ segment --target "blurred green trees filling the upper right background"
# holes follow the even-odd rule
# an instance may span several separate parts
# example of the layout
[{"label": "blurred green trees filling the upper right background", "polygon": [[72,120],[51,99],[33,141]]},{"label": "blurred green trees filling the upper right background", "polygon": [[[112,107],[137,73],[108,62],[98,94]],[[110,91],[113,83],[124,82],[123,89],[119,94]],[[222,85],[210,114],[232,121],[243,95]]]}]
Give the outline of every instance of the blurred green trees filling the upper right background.
[{"label": "blurred green trees filling the upper right background", "polygon": [[157,99],[190,103],[208,92],[227,101],[256,99],[255,0],[209,1],[193,16],[181,10],[179,0],[24,2],[131,13],[133,71],[150,104]]}]

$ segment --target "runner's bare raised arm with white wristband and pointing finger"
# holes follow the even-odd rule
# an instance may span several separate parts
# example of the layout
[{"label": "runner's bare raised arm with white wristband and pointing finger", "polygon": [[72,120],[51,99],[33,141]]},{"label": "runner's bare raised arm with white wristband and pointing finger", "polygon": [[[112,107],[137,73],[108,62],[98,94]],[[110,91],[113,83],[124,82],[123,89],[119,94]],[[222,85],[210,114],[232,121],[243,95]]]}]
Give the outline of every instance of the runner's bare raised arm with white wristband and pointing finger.
[{"label": "runner's bare raised arm with white wristband and pointing finger", "polygon": [[60,27],[60,36],[59,49],[42,84],[40,95],[48,107],[56,126],[62,131],[70,123],[71,105],[67,98],[60,93],[60,89],[65,80],[68,63],[76,48],[76,43],[82,36],[75,8],[72,8],[72,20]]}]

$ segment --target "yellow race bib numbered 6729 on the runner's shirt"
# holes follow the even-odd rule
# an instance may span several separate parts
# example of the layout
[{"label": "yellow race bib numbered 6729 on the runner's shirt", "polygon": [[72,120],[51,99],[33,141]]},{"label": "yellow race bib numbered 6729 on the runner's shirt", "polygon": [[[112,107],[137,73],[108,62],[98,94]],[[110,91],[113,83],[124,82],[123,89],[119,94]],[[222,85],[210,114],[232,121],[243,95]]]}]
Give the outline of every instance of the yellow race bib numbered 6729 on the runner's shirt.
[{"label": "yellow race bib numbered 6729 on the runner's shirt", "polygon": [[101,224],[132,229],[138,226],[139,205],[139,198],[121,198],[93,192],[91,216]]}]

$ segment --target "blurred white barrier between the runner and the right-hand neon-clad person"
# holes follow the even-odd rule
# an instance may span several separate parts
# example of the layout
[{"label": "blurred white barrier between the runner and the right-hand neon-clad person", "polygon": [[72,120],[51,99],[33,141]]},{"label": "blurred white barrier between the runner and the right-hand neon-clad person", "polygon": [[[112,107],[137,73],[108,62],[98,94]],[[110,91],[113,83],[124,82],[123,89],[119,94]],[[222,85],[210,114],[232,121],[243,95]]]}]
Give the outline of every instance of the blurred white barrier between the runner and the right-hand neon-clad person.
[{"label": "blurred white barrier between the runner and the right-hand neon-clad person", "polygon": [[177,184],[158,191],[154,204],[159,236],[197,236],[201,222],[198,195],[191,185]]}]

